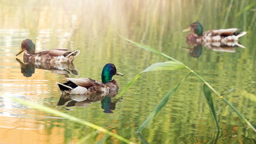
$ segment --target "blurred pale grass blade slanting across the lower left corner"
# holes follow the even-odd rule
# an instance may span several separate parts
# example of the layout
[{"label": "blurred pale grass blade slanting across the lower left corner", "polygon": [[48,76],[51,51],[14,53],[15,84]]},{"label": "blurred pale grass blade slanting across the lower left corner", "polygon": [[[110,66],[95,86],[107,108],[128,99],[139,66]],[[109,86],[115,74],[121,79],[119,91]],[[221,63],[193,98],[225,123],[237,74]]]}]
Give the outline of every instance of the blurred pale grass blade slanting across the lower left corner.
[{"label": "blurred pale grass blade slanting across the lower left corner", "polygon": [[103,133],[109,134],[110,136],[113,136],[113,137],[115,137],[115,138],[117,138],[117,139],[119,139],[123,142],[132,143],[129,140],[124,139],[124,137],[119,136],[118,134],[112,133],[111,131],[108,131],[105,128],[102,128],[102,127],[100,127],[98,125],[95,125],[91,122],[87,122],[87,121],[84,121],[82,119],[76,118],[75,116],[68,115],[67,113],[59,112],[57,110],[50,109],[49,107],[40,106],[39,104],[31,103],[29,101],[23,101],[23,100],[20,100],[18,98],[11,97],[11,99],[13,99],[14,101],[17,101],[18,103],[24,104],[26,106],[33,107],[34,109],[43,110],[44,112],[52,113],[53,115],[58,115],[58,116],[61,116],[62,118],[66,118],[66,119],[69,119],[71,121],[78,122],[79,124],[89,126],[89,127],[94,128],[96,130],[102,131]]}]

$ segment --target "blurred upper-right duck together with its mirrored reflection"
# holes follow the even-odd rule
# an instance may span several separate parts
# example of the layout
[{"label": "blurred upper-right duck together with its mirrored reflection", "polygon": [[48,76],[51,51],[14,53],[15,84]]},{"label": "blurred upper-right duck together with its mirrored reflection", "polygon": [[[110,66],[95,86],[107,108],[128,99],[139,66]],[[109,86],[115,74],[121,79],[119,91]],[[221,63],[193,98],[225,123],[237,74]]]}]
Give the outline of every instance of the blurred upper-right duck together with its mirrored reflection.
[{"label": "blurred upper-right duck together with its mirrored reflection", "polygon": [[[236,50],[234,47],[245,48],[239,43],[239,38],[246,34],[246,32],[237,32],[239,29],[213,29],[203,32],[201,23],[192,23],[189,28],[184,29],[183,32],[192,31],[186,37],[186,42],[193,49],[184,48],[189,52],[189,55],[198,58],[202,53],[202,46],[218,52],[231,52]],[[201,45],[201,46],[200,46]]]}]

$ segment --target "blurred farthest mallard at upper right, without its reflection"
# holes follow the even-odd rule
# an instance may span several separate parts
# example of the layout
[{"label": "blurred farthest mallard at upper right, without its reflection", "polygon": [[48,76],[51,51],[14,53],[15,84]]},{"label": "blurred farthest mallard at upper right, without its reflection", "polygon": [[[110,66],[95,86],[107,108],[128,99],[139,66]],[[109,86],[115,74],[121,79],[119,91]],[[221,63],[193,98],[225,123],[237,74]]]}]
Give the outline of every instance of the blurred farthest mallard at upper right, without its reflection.
[{"label": "blurred farthest mallard at upper right, without its reflection", "polygon": [[239,29],[212,29],[210,31],[203,32],[203,26],[199,22],[192,23],[189,28],[184,29],[182,32],[192,31],[191,34],[187,35],[186,41],[190,46],[195,44],[213,45],[213,46],[239,46],[239,38],[246,34],[246,32],[237,32]]}]

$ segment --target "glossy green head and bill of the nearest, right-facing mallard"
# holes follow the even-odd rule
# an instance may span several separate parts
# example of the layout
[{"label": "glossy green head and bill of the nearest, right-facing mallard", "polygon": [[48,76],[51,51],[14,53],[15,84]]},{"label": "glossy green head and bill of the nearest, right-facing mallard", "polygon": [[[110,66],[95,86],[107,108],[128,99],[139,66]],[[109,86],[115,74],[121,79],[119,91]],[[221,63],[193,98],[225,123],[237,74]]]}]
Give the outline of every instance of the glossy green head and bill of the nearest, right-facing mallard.
[{"label": "glossy green head and bill of the nearest, right-facing mallard", "polygon": [[112,80],[112,76],[115,74],[123,76],[122,73],[117,71],[114,64],[106,64],[102,70],[102,83],[107,83]]}]

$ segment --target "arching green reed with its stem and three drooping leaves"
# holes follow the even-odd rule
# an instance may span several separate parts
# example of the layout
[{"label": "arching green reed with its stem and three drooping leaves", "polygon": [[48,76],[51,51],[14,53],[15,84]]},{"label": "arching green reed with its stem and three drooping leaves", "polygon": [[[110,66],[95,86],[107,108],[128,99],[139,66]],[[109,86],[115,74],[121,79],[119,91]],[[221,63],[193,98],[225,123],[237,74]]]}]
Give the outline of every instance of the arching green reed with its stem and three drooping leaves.
[{"label": "arching green reed with its stem and three drooping leaves", "polygon": [[157,62],[155,64],[152,64],[150,67],[146,68],[144,71],[141,71],[141,73],[137,74],[135,77],[133,77],[133,79],[126,85],[126,87],[120,92],[120,94],[118,94],[118,96],[116,98],[121,97],[122,94],[124,94],[124,92],[132,85],[133,82],[135,82],[136,79],[138,79],[142,73],[146,73],[146,72],[150,72],[150,71],[165,71],[165,70],[180,70],[180,69],[184,69],[186,68],[187,70],[189,70],[189,74],[187,74],[184,79],[181,80],[181,82],[179,82],[176,86],[174,86],[174,88],[172,88],[166,95],[165,97],[163,97],[162,101],[160,101],[160,103],[158,104],[158,106],[156,107],[156,109],[153,110],[153,112],[151,112],[150,116],[148,116],[148,118],[145,120],[145,122],[141,125],[141,127],[139,127],[137,133],[141,133],[141,131],[147,127],[147,125],[150,123],[150,121],[157,115],[157,113],[163,108],[163,106],[165,106],[166,102],[169,100],[169,98],[171,98],[171,96],[174,94],[175,91],[177,91],[178,87],[181,85],[181,83],[192,73],[194,74],[196,77],[198,77],[198,79],[200,79],[204,84],[203,84],[203,90],[204,90],[204,95],[206,97],[207,103],[210,107],[210,112],[213,115],[213,118],[215,119],[215,123],[216,123],[216,127],[218,129],[218,131],[220,130],[219,127],[219,122],[215,113],[215,109],[214,109],[214,104],[213,104],[213,98],[212,98],[212,92],[211,90],[219,97],[221,98],[221,100],[223,100],[226,104],[228,104],[228,106],[231,107],[232,110],[234,110],[237,115],[240,116],[240,118],[243,119],[243,121],[246,122],[246,124],[252,128],[252,130],[255,131],[256,133],[256,128],[254,127],[254,125],[251,124],[251,122],[249,122],[241,113],[239,113],[225,98],[224,95],[219,94],[218,91],[216,91],[208,82],[206,82],[206,80],[204,80],[201,76],[199,76],[197,73],[195,73],[194,70],[190,69],[189,67],[187,67],[186,65],[184,65],[182,62],[177,61],[174,58],[171,58],[171,56],[165,55],[165,53],[162,53],[156,49],[153,49],[150,46],[147,46],[145,44],[141,44],[141,43],[136,43],[135,41],[129,40],[127,38],[124,38],[120,35],[121,38],[123,38],[126,41],[129,41],[130,43],[134,44],[137,47],[140,47],[142,49],[145,49],[147,51],[156,53],[157,55],[163,56],[171,61],[167,61],[167,62]]}]

